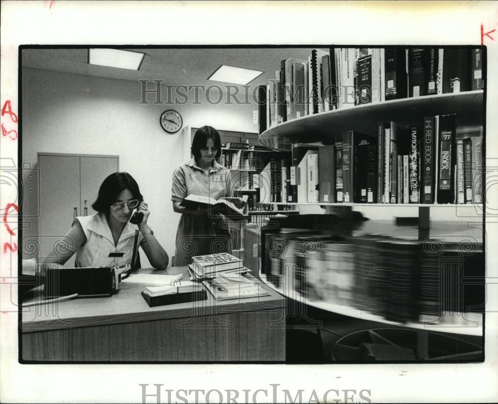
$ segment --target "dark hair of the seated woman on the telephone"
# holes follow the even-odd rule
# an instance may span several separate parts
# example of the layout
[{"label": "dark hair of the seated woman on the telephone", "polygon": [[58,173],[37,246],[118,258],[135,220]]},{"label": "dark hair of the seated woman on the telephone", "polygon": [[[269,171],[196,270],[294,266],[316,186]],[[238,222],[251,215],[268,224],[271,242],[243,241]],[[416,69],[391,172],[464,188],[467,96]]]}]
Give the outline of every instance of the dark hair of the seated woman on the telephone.
[{"label": "dark hair of the seated woman on the telephone", "polygon": [[115,172],[109,175],[99,189],[99,196],[92,204],[97,212],[109,213],[109,208],[116,202],[118,195],[125,189],[129,189],[133,199],[143,202],[143,196],[138,189],[138,184],[127,172]]}]

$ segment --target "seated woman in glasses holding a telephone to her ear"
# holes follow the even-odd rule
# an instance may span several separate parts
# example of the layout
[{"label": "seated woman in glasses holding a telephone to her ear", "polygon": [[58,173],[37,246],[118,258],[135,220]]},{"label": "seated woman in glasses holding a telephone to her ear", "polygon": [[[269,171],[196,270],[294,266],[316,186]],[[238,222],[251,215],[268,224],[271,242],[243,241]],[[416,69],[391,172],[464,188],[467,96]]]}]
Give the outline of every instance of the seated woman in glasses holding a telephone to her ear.
[{"label": "seated woman in glasses holding a telephone to her ear", "polygon": [[[138,226],[137,246],[145,252],[152,267],[166,269],[168,255],[147,225],[150,212],[131,175],[127,172],[109,175],[100,186],[92,208],[98,213],[76,217],[64,239],[59,241],[56,250],[60,265],[76,253],[75,267],[124,267],[130,264],[134,269],[136,264],[131,263],[131,258]],[[129,222],[134,208],[143,214],[138,225]]]}]

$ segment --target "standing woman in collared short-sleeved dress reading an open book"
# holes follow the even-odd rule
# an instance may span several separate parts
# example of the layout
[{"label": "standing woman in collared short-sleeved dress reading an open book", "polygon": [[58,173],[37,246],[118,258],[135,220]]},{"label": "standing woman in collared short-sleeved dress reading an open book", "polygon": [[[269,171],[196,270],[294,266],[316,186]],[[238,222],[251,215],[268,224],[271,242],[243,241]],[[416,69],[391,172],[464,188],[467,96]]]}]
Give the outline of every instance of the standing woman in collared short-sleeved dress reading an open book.
[{"label": "standing woman in collared short-sleeved dress reading an open book", "polygon": [[191,151],[194,157],[173,174],[173,210],[182,214],[176,232],[175,266],[192,264],[193,256],[232,252],[228,223],[220,213],[180,206],[191,194],[214,199],[232,196],[230,170],[216,161],[221,154],[220,134],[210,126],[198,129]]}]

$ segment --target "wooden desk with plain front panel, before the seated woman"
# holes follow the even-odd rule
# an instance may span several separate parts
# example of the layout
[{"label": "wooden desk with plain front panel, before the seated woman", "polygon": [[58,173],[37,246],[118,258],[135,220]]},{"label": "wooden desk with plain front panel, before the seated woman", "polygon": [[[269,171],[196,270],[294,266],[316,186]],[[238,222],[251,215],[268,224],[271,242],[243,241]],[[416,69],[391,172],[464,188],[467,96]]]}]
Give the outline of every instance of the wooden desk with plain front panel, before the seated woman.
[{"label": "wooden desk with plain front panel, before the seated woman", "polygon": [[[139,273],[183,273],[186,267]],[[285,299],[269,296],[149,307],[143,284],[122,283],[111,297],[81,297],[25,307],[24,361],[246,362],[285,360]],[[24,303],[40,298],[42,286]],[[38,294],[38,297],[37,297]]]}]

